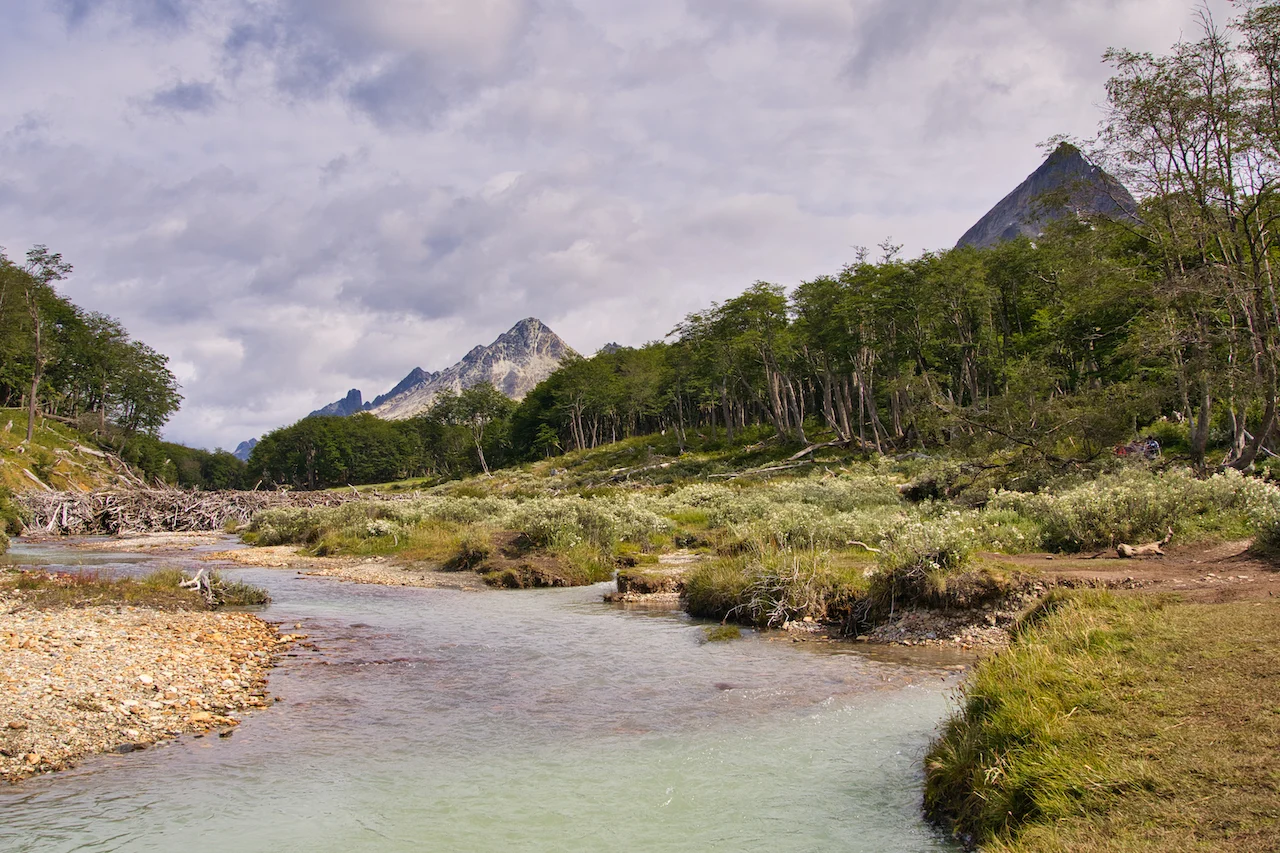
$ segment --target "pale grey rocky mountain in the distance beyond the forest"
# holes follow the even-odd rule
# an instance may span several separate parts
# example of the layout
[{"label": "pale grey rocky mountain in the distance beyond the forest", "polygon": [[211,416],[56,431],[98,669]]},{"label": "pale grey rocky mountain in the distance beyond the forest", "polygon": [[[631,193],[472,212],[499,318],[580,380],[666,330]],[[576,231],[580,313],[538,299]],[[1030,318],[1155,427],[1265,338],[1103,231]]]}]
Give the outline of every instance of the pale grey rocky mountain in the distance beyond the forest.
[{"label": "pale grey rocky mountain in the distance beyond the forest", "polygon": [[[442,391],[458,392],[480,382],[492,382],[512,400],[522,400],[570,355],[577,353],[547,324],[527,318],[498,336],[489,346],[474,348],[452,368],[436,374],[422,374],[426,382],[404,391],[397,391],[397,386],[392,393],[380,397],[381,402],[371,411],[388,420],[403,420],[428,410]],[[410,377],[404,378],[406,382]]]}]

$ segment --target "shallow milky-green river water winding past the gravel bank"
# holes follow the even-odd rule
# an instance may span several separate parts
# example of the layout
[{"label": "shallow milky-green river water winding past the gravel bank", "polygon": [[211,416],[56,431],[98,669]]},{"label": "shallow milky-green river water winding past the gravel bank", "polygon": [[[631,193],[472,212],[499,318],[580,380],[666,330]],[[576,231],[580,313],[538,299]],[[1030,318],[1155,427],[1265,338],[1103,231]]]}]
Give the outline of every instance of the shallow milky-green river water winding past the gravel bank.
[{"label": "shallow milky-green river water winding past the gravel bank", "polygon": [[[227,547],[223,543],[219,547]],[[18,543],[119,574],[189,558]],[[456,592],[223,569],[317,651],[229,739],[0,788],[0,850],[952,850],[920,763],[954,660],[705,643],[604,587]]]}]

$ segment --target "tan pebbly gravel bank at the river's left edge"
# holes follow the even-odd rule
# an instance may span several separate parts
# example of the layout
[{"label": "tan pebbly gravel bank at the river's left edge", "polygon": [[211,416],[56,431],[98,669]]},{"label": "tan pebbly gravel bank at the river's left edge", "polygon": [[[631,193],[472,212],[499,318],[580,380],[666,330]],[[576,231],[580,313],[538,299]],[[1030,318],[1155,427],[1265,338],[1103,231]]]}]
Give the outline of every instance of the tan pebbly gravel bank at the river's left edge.
[{"label": "tan pebbly gravel bank at the river's left edge", "polygon": [[250,613],[36,611],[0,594],[0,776],[228,730],[270,703],[266,674],[294,639]]}]

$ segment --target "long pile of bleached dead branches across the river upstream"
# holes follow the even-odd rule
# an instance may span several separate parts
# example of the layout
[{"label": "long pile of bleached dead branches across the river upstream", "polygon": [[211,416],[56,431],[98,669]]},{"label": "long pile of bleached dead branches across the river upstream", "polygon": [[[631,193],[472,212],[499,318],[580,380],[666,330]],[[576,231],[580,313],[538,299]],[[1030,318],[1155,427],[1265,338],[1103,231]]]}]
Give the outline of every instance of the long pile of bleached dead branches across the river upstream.
[{"label": "long pile of bleached dead branches across the river upstream", "polygon": [[195,533],[246,524],[255,512],[287,507],[337,506],[367,498],[339,492],[187,492],[184,489],[102,489],[23,492],[27,533],[90,535]]}]

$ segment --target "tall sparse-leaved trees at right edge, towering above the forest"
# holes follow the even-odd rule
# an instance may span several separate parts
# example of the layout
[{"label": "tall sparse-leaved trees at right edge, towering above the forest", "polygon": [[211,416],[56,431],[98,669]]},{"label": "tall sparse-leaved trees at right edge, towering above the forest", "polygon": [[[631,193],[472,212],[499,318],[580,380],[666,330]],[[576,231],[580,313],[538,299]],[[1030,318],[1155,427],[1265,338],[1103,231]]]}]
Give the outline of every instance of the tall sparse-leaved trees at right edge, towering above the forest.
[{"label": "tall sparse-leaved trees at right edge, towering above the forest", "polygon": [[[1207,12],[1197,41],[1166,56],[1111,50],[1102,154],[1143,197],[1135,225],[1161,273],[1167,351],[1193,444],[1226,402],[1228,464],[1253,464],[1280,416],[1280,4],[1252,4],[1224,31]],[[1239,38],[1233,38],[1231,32]],[[1238,365],[1247,365],[1240,370]],[[1261,418],[1245,438],[1251,401]]]}]

